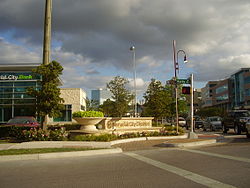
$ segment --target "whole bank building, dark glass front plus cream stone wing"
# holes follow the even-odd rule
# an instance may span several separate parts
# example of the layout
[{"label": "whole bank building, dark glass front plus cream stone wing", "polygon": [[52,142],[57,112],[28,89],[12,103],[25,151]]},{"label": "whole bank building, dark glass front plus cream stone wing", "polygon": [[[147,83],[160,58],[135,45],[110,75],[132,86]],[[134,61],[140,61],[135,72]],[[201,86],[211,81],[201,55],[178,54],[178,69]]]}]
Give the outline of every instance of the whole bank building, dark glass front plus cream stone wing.
[{"label": "whole bank building, dark glass front plus cream stone wing", "polygon": [[[36,117],[36,98],[26,94],[28,87],[40,89],[42,77],[32,69],[40,64],[2,64],[0,65],[0,124],[15,116]],[[86,93],[80,88],[63,88],[64,99],[62,117],[51,118],[52,122],[71,122],[72,112],[86,108]]]}]

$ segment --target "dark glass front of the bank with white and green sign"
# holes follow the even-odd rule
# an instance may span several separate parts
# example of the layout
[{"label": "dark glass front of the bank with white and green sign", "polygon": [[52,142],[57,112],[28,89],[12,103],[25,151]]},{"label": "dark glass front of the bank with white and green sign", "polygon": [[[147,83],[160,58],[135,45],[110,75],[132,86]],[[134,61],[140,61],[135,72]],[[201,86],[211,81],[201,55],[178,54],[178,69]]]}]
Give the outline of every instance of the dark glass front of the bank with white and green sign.
[{"label": "dark glass front of the bank with white and green sign", "polygon": [[40,88],[41,76],[32,73],[38,65],[0,65],[0,123],[14,116],[36,117],[36,99],[26,91],[28,87]]}]

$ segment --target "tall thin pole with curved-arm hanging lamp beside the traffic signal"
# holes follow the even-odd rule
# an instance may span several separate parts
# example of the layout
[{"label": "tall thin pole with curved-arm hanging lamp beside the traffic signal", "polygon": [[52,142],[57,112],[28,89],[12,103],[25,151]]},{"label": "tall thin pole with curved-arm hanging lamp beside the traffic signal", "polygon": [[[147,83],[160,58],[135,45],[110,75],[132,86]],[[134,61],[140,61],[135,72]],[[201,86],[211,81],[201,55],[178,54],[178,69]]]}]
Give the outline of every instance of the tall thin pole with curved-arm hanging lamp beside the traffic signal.
[{"label": "tall thin pole with curved-arm hanging lamp beside the traffic signal", "polygon": [[179,127],[179,113],[178,113],[178,86],[177,86],[177,70],[179,73],[178,55],[182,52],[184,54],[184,63],[187,63],[187,55],[184,50],[178,50],[176,53],[176,41],[173,40],[173,61],[174,61],[174,80],[175,80],[175,110],[176,110],[176,132]]}]

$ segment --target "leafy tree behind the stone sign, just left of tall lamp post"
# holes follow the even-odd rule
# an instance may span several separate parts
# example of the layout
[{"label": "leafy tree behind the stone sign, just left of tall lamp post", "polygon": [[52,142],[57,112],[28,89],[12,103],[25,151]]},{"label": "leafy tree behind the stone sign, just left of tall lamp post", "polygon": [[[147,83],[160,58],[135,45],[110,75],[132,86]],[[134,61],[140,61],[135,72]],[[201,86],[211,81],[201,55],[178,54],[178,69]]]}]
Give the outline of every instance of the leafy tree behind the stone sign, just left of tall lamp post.
[{"label": "leafy tree behind the stone sign, just left of tall lamp post", "polygon": [[116,76],[107,84],[107,88],[110,89],[114,99],[113,116],[122,117],[128,112],[133,95],[126,89],[127,84],[128,80],[120,76]]}]

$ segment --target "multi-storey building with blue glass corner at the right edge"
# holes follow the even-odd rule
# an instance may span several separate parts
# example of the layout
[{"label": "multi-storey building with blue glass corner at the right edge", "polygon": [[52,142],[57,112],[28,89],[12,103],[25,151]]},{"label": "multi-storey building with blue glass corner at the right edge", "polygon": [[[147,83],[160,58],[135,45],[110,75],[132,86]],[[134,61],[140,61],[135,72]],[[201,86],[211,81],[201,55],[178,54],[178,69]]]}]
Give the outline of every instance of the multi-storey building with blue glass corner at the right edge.
[{"label": "multi-storey building with blue glass corner at the right edge", "polygon": [[202,88],[202,107],[250,110],[250,68],[242,68],[224,80],[209,81]]}]

